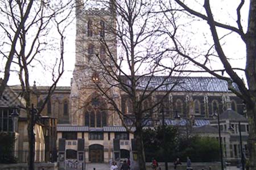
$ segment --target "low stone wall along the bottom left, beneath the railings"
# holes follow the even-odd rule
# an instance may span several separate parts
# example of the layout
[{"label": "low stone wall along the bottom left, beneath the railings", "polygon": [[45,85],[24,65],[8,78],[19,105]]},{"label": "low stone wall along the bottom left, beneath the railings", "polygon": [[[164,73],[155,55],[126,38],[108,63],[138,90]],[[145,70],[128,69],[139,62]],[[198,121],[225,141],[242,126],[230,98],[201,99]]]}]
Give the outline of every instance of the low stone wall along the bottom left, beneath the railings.
[{"label": "low stone wall along the bottom left, beneath the railings", "polygon": [[[35,163],[35,170],[57,170],[57,163]],[[26,163],[23,164],[0,164],[0,170],[28,170]]]}]

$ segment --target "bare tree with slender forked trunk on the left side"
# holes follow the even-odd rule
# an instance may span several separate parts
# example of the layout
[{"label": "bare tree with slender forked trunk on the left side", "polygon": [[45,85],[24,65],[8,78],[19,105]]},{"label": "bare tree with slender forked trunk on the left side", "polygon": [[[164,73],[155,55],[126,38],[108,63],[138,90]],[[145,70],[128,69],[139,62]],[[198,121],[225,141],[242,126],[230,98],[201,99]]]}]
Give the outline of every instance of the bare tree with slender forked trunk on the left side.
[{"label": "bare tree with slender forked trunk on the left side", "polygon": [[[0,53],[3,61],[6,61],[0,96],[13,68],[18,73],[22,97],[26,101],[23,109],[26,110],[28,120],[28,169],[32,170],[35,160],[35,115],[31,100],[33,91],[30,86],[30,73],[38,64],[52,70],[52,85],[39,108],[37,114],[40,114],[64,73],[65,30],[72,20],[72,1],[1,1],[0,10],[0,30],[3,36]],[[51,38],[52,35],[55,41]],[[44,58],[51,52],[59,55],[52,66],[47,66],[44,63],[47,59]]]}]

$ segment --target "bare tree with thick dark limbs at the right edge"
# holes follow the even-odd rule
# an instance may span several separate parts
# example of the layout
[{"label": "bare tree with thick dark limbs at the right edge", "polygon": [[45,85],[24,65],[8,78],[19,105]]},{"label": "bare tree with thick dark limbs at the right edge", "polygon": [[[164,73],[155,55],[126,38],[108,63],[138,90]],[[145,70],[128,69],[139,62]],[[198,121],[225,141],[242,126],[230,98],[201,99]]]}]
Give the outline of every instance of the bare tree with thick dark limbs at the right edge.
[{"label": "bare tree with thick dark limbs at the right edge", "polygon": [[[162,10],[160,11],[164,13],[167,20],[169,21],[168,24],[170,24],[172,27],[170,29],[170,27],[166,25],[166,29],[164,29],[164,32],[168,34],[173,45],[173,48],[170,47],[168,50],[177,52],[177,54],[184,57],[185,59],[188,59],[197,66],[197,69],[185,71],[190,73],[207,72],[219,79],[226,80],[228,82],[229,90],[234,92],[234,94],[243,99],[245,102],[247,116],[249,117],[248,120],[250,129],[248,139],[248,148],[250,153],[249,166],[250,169],[256,169],[256,1],[248,2],[249,15],[245,18],[242,18],[242,16],[244,16],[242,15],[242,10],[244,8],[247,10],[246,1],[241,0],[237,1],[236,3],[237,7],[233,10],[233,13],[236,14],[236,16],[233,16],[236,22],[233,23],[229,22],[230,20],[233,20],[229,15],[222,15],[221,18],[217,17],[216,9],[217,12],[220,12],[222,9],[224,11],[228,11],[228,5],[221,6],[220,10],[220,5],[218,5],[216,8],[213,8],[213,5],[210,5],[209,0],[201,2],[195,1],[193,3],[180,0],[175,0],[175,3],[167,1],[162,4]],[[194,22],[196,20],[196,23],[207,22],[207,28],[209,28],[208,31],[211,37],[211,41],[213,42],[213,45],[209,46],[207,52],[199,53],[199,46],[194,49],[191,47],[185,48],[188,47],[189,42],[181,40],[178,36],[180,29],[178,29],[177,20],[174,19],[175,15],[182,15],[187,20],[193,19]],[[229,21],[227,18],[229,18]],[[247,25],[243,24],[244,20],[247,20]],[[190,28],[198,28],[197,25],[191,25]],[[192,30],[195,31],[195,29]],[[203,35],[205,32],[201,31],[199,33]],[[233,65],[232,57],[229,56],[229,50],[233,49],[233,51],[236,51],[237,49],[233,47],[233,44],[225,43],[226,36],[239,37],[239,39],[245,45],[246,48],[244,53],[246,54],[246,65],[244,68],[236,67]],[[188,37],[185,39],[188,39]],[[198,38],[198,41],[201,41],[201,44],[203,44],[205,39]],[[228,46],[229,49],[225,48],[226,46]],[[188,49],[189,52],[187,51]],[[241,48],[241,50],[243,49]],[[222,66],[217,66],[222,68],[215,69],[216,67],[212,65],[214,61],[217,61],[217,63],[222,63]],[[224,72],[228,74],[228,76],[225,76]],[[238,75],[239,73],[245,74],[246,83]],[[234,83],[236,85],[234,85]]]}]

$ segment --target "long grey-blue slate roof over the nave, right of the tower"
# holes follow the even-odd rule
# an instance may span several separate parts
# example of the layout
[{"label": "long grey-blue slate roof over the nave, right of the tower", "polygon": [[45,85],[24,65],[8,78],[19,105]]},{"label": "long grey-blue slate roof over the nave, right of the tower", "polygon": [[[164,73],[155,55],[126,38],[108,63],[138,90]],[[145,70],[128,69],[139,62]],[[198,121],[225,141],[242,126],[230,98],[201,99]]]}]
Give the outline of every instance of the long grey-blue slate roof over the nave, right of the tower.
[{"label": "long grey-blue slate roof over the nave, right of the tower", "polygon": [[[126,80],[125,76],[122,79],[130,84],[129,80]],[[227,92],[228,83],[225,80],[221,80],[214,77],[183,77],[183,76],[171,76],[166,79],[166,76],[143,76],[138,80],[138,90],[146,88],[152,90],[164,82],[164,85],[158,88],[158,91],[196,91],[196,92]],[[150,82],[148,84],[148,82]],[[234,88],[237,88],[236,84],[233,84]]]}]

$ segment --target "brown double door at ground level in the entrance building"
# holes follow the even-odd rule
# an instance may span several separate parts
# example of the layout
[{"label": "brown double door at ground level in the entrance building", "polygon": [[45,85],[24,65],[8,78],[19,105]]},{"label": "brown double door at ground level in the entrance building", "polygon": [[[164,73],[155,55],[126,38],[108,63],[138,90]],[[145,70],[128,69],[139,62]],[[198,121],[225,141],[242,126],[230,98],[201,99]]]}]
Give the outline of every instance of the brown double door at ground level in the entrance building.
[{"label": "brown double door at ground level in the entrance building", "polygon": [[102,145],[90,145],[89,146],[89,161],[91,163],[104,162],[104,146]]}]

